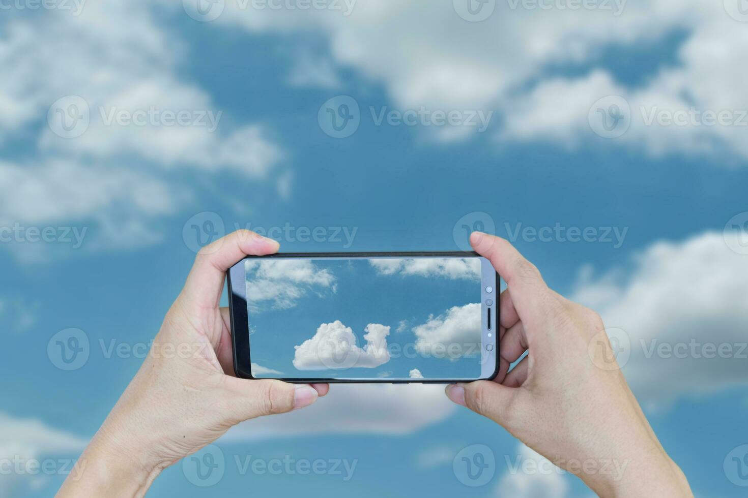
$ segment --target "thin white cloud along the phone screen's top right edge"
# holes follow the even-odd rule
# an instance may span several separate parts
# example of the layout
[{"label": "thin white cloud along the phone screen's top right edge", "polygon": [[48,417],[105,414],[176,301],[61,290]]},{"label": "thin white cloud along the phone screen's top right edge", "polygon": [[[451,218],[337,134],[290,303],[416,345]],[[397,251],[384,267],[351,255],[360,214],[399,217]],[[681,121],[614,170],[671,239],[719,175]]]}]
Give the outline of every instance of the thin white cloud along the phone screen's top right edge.
[{"label": "thin white cloud along the phone screen's top right edge", "polygon": [[452,280],[480,280],[478,258],[383,258],[370,259],[369,263],[381,275],[416,275],[444,277]]}]

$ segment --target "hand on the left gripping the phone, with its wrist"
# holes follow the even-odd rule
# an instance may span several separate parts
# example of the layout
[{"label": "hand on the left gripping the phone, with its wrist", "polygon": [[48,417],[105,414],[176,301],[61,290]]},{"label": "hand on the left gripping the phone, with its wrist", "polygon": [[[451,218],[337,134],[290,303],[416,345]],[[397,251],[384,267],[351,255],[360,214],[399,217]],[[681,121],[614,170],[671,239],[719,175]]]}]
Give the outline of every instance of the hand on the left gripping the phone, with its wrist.
[{"label": "hand on the left gripping the phone, with its wrist", "polygon": [[234,376],[230,317],[218,307],[225,272],[245,255],[277,251],[246,230],[200,250],[148,357],[79,459],[82,478],[71,473],[59,496],[142,496],[161,470],[231,426],[325,396],[326,384]]}]

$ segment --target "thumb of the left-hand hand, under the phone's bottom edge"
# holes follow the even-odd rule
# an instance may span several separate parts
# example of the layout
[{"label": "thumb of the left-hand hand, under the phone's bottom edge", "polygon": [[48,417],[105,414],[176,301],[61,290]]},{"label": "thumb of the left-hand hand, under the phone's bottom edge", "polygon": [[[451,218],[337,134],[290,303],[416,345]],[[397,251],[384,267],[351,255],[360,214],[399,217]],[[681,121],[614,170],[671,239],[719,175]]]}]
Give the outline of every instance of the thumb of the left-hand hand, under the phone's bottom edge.
[{"label": "thumb of the left-hand hand, under the phone's bottom edge", "polygon": [[239,412],[237,422],[303,408],[311,405],[319,396],[313,387],[306,384],[289,384],[276,379],[226,379],[232,402]]}]

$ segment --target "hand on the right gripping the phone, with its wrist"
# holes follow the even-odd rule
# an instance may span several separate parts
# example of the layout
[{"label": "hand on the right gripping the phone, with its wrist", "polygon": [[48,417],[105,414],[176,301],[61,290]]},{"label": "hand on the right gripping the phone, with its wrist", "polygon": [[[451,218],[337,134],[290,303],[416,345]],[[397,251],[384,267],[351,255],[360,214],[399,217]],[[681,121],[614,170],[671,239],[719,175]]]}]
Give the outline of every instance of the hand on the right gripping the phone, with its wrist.
[{"label": "hand on the right gripping the phone, with its wrist", "polygon": [[[474,232],[470,244],[508,287],[499,302],[500,367],[493,381],[449,385],[447,396],[499,423],[601,496],[692,496],[614,363],[598,314],[549,289],[506,240]],[[623,469],[622,476],[605,471],[607,462]]]}]

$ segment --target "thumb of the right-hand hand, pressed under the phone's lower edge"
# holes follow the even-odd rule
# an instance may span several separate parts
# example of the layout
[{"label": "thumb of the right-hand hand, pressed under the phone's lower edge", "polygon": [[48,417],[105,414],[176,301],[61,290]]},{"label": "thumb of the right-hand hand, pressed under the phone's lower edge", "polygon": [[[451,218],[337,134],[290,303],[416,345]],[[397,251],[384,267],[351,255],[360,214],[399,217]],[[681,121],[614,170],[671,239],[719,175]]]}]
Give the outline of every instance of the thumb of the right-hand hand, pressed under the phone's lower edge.
[{"label": "thumb of the right-hand hand, pressed under the phone's lower edge", "polygon": [[447,397],[506,429],[509,425],[509,412],[519,389],[492,381],[476,381],[448,385]]}]

